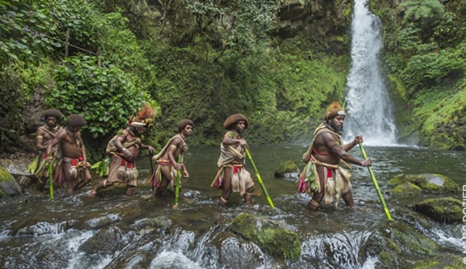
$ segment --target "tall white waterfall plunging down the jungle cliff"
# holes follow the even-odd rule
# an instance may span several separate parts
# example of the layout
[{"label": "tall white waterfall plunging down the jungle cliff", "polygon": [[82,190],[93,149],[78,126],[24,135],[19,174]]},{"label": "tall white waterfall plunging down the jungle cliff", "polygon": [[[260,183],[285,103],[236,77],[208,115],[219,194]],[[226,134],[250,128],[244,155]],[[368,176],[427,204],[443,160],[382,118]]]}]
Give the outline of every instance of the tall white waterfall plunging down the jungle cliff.
[{"label": "tall white waterfall plunging down the jungle cliff", "polygon": [[362,134],[367,145],[395,145],[396,126],[380,70],[381,22],[367,0],[354,1],[351,70],[347,77],[347,140]]}]

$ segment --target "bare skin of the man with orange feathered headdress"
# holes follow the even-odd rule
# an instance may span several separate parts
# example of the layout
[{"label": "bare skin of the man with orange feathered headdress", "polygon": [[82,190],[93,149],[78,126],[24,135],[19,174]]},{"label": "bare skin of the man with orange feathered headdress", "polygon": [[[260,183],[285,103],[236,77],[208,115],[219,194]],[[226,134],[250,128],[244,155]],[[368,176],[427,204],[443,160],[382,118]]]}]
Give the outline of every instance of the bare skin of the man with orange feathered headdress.
[{"label": "bare skin of the man with orange feathered headdress", "polygon": [[[124,147],[123,144],[126,142],[132,142],[135,138],[140,138],[140,136],[147,131],[147,129],[143,126],[129,126],[128,129],[124,129],[123,133],[115,139],[115,147],[117,147],[118,152],[124,155],[124,159],[127,161],[134,161],[136,157],[138,157],[140,150],[149,150],[150,154],[154,154],[154,147],[150,145],[144,145],[140,143],[139,147],[131,146],[131,147]],[[105,189],[110,187],[115,182],[107,182],[105,184],[105,180],[100,182],[94,189],[92,189],[89,196],[96,195],[101,189]],[[136,190],[136,186],[128,185],[126,186],[126,191],[124,194],[127,196],[133,196],[134,191]]]}]

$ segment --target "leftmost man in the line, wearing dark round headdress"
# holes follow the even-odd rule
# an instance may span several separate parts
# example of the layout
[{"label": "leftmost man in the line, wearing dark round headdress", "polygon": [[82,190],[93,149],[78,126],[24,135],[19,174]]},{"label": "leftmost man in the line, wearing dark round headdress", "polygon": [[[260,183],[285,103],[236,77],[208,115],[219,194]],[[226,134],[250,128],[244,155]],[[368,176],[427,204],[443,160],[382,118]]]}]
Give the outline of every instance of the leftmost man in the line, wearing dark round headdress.
[{"label": "leftmost man in the line, wearing dark round headdress", "polygon": [[[43,191],[45,187],[45,182],[47,182],[48,179],[48,169],[46,169],[45,166],[42,166],[42,170],[38,170],[40,167],[40,164],[42,161],[45,161],[45,158],[47,157],[47,146],[48,143],[52,141],[52,139],[57,135],[59,131],[61,131],[63,128],[59,126],[59,123],[61,121],[61,113],[56,110],[56,109],[49,109],[45,110],[44,112],[44,118],[46,121],[46,124],[43,126],[40,126],[37,129],[37,137],[36,137],[36,147],[39,151],[41,151],[41,154],[34,159],[36,167],[35,171],[31,171],[31,173],[34,173],[37,175],[37,190],[38,191]],[[57,151],[57,146],[52,147],[52,154],[54,154]]]}]

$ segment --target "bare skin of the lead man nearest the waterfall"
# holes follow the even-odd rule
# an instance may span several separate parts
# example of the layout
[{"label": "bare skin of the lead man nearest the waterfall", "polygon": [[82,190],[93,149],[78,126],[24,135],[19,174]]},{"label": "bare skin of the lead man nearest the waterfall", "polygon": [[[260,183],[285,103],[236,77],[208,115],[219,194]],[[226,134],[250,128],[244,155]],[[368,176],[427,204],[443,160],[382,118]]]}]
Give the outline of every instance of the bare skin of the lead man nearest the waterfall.
[{"label": "bare skin of the lead man nearest the waterfall", "polygon": [[[328,124],[333,126],[337,131],[342,131],[343,129],[343,122],[344,122],[344,115],[338,115],[337,117],[334,117],[333,119],[330,119],[328,121]],[[356,136],[354,140],[351,143],[348,143],[347,145],[344,145],[344,147],[341,147],[338,144],[338,139],[335,135],[332,133],[321,133],[319,136],[316,137],[314,140],[314,149],[318,152],[328,152],[328,155],[319,155],[319,154],[312,154],[314,158],[318,161],[321,161],[323,163],[329,163],[329,164],[338,164],[340,163],[340,160],[346,161],[347,163],[352,163],[358,166],[370,166],[372,165],[372,160],[371,159],[365,159],[365,160],[360,160],[356,159],[353,157],[351,154],[349,154],[347,151],[351,150],[354,146],[358,145],[358,143],[363,142],[363,136]],[[312,200],[314,200],[316,203],[321,203],[323,199],[323,195],[325,194],[325,181],[324,181],[324,175],[323,171],[324,169],[321,169],[321,166],[317,165],[317,172],[319,173],[319,179],[320,179],[320,184],[321,184],[321,191],[318,193],[315,193],[312,196]],[[348,191],[346,194],[342,196],[344,202],[348,206],[354,206],[354,199],[353,199],[353,194],[351,194],[351,191]],[[309,203],[309,208],[311,210],[316,210],[318,205],[313,205],[312,203]]]}]

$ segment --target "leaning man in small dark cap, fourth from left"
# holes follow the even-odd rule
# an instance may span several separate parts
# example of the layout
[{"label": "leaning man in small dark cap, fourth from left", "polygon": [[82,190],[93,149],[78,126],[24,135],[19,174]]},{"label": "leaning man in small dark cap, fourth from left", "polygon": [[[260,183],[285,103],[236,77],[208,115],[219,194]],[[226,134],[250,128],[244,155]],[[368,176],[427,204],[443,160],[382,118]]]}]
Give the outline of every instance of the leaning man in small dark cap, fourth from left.
[{"label": "leaning man in small dark cap, fourth from left", "polygon": [[[170,189],[175,187],[177,170],[182,169],[183,176],[186,178],[189,177],[189,173],[183,163],[184,152],[188,150],[187,138],[191,136],[193,127],[191,119],[182,119],[178,123],[178,131],[180,133],[170,138],[159,154],[152,157],[152,161],[156,162],[156,168],[150,181],[152,182],[155,196],[160,197],[167,187],[170,187]],[[181,165],[177,163],[180,155],[182,157]]]}]

